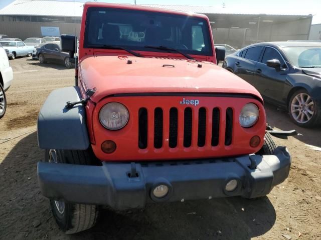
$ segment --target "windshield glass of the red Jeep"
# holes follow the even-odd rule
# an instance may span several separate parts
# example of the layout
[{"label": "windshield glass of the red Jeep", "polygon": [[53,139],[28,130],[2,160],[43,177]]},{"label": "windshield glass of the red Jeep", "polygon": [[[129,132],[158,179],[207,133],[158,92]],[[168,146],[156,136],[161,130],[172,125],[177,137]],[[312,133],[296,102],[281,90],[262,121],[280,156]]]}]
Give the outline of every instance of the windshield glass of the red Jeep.
[{"label": "windshield glass of the red Jeep", "polygon": [[130,50],[164,51],[166,46],[187,54],[213,55],[206,19],[142,10],[90,7],[84,47],[117,45]]}]

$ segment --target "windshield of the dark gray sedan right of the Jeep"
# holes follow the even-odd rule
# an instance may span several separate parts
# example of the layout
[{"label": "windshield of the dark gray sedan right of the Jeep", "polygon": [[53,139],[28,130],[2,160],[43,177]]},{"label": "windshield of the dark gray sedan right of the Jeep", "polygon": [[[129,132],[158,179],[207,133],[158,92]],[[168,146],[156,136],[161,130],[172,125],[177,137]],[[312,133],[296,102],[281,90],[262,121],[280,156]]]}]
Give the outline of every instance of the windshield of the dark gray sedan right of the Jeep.
[{"label": "windshield of the dark gray sedan right of the Jeep", "polygon": [[321,67],[321,46],[289,46],[283,49],[297,67]]}]

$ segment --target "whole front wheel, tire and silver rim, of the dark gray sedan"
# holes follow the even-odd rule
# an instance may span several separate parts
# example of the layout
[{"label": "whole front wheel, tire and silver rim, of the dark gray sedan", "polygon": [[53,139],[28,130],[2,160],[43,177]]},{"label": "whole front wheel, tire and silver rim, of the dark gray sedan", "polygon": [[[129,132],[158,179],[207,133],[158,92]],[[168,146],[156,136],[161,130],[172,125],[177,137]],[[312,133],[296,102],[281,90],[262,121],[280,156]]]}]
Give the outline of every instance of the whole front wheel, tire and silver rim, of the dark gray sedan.
[{"label": "whole front wheel, tire and silver rim, of the dark gray sedan", "polygon": [[288,102],[292,121],[302,127],[313,127],[320,124],[321,109],[305,89],[295,91]]}]

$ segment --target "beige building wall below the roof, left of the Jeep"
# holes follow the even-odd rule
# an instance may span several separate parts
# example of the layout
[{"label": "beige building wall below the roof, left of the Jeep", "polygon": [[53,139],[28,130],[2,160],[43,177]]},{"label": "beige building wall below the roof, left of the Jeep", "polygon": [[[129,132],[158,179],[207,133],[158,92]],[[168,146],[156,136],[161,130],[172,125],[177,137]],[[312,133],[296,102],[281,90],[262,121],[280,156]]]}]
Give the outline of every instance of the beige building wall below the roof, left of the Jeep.
[{"label": "beige building wall below the roof, left of the Jeep", "polygon": [[27,37],[41,37],[41,26],[56,26],[60,34],[75,34],[79,37],[80,23],[65,22],[30,22],[30,21],[1,21],[0,34],[7,34],[9,37],[18,37],[22,40]]}]

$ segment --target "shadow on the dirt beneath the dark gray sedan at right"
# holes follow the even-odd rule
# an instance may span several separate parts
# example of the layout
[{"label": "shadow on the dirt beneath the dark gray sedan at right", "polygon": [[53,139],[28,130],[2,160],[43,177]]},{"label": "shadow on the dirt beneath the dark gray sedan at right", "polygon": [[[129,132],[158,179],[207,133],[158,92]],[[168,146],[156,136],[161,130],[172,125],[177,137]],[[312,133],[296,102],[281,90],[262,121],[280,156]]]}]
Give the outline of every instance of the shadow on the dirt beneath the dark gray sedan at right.
[{"label": "shadow on the dirt beneath the dark gray sedan at right", "polygon": [[277,127],[281,130],[292,130],[295,129],[298,133],[294,136],[298,140],[304,142],[305,144],[314,145],[321,147],[321,128],[303,128],[296,125],[291,121],[289,114],[286,111],[278,110],[276,106],[265,103],[267,123],[272,127]]}]

